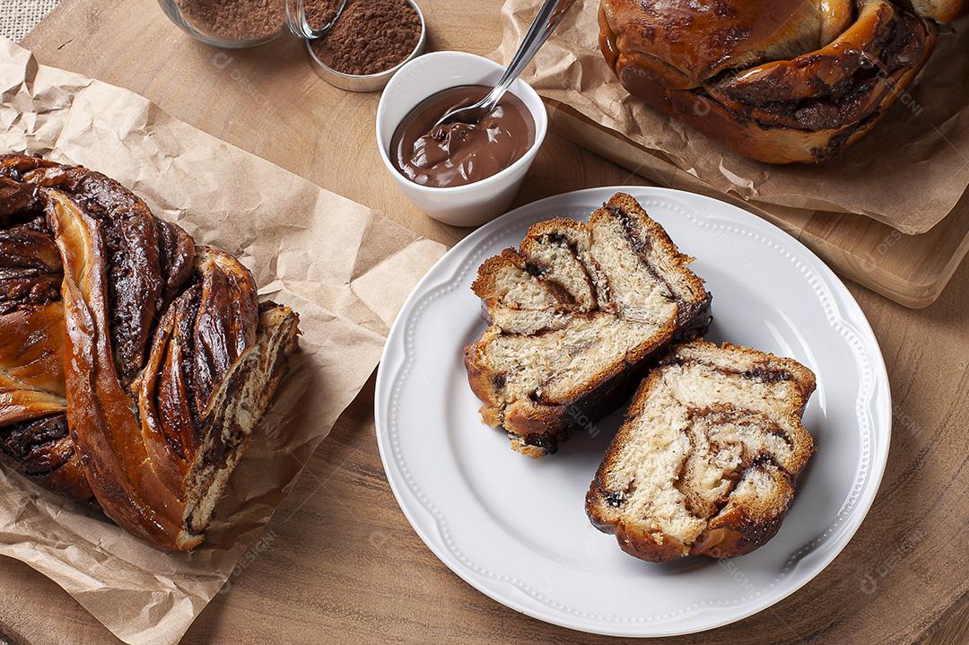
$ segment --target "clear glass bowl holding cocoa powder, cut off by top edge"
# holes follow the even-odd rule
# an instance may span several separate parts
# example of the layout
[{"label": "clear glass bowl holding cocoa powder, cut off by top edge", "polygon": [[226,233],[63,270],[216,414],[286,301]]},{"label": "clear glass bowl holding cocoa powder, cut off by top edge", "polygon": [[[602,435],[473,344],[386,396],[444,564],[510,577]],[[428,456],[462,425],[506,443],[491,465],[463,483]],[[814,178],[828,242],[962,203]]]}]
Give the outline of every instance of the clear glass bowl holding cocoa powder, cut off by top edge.
[{"label": "clear glass bowl holding cocoa powder, cut off by top edge", "polygon": [[165,15],[206,45],[239,49],[283,32],[285,0],[158,0]]}]

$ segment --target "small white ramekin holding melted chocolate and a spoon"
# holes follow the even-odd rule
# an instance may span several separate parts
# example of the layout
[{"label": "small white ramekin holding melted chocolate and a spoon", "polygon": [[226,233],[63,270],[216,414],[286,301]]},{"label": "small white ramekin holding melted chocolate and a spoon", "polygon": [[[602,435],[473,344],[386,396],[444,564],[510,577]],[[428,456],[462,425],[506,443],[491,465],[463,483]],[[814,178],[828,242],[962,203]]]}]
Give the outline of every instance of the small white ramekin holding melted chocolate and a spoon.
[{"label": "small white ramekin holding melted chocolate and a spoon", "polygon": [[377,146],[384,166],[407,199],[438,222],[473,227],[485,224],[508,209],[545,139],[548,128],[545,104],[528,83],[521,79],[515,81],[511,91],[531,112],[535,121],[535,141],[507,169],[465,186],[422,186],[400,174],[391,162],[393,132],[404,116],[430,95],[456,85],[493,85],[503,71],[501,65],[481,56],[462,51],[435,51],[400,68],[380,98]]}]

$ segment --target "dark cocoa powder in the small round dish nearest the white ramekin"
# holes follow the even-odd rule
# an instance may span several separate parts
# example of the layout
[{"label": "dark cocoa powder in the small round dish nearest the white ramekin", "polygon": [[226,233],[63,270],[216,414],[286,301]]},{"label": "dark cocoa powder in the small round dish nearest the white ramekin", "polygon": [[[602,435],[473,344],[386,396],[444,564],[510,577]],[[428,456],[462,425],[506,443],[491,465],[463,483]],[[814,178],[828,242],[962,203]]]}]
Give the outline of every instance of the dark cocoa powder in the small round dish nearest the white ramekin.
[{"label": "dark cocoa powder in the small round dish nearest the white ramekin", "polygon": [[[320,27],[338,2],[306,0],[306,21]],[[406,0],[350,0],[313,51],[330,69],[355,76],[377,74],[407,58],[421,39],[421,17]]]}]

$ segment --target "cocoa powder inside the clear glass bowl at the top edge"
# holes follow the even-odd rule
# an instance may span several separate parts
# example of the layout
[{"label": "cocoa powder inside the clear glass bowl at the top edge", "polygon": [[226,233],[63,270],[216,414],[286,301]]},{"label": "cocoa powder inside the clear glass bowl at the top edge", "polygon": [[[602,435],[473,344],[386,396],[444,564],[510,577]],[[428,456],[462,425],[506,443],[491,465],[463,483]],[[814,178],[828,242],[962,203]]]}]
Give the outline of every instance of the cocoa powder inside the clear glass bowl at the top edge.
[{"label": "cocoa powder inside the clear glass bowl at the top edge", "polygon": [[230,41],[261,40],[285,21],[285,0],[175,0],[197,31]]}]

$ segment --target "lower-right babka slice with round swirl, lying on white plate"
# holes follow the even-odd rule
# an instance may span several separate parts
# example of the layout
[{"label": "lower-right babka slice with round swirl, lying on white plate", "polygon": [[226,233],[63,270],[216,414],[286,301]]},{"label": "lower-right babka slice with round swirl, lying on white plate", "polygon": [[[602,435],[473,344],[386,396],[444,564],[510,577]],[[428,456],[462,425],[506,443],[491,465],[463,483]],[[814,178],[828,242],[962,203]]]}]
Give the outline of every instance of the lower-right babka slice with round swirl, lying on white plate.
[{"label": "lower-right babka slice with round swirl, lying on white plate", "polygon": [[777,533],[814,451],[814,375],[725,343],[672,349],[643,381],[589,488],[592,523],[631,555],[748,553]]}]

